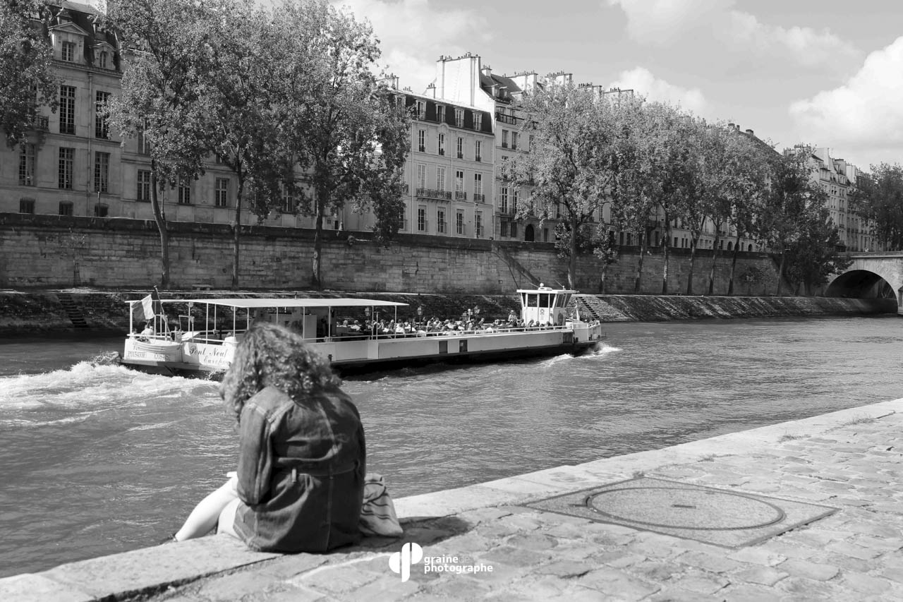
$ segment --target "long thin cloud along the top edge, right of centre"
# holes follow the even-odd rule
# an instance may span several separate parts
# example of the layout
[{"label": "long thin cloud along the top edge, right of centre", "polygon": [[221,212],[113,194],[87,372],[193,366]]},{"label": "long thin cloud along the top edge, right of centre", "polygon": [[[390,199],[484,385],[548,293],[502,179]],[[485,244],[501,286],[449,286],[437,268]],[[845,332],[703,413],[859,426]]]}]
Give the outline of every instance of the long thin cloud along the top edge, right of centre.
[{"label": "long thin cloud along the top edge, right of centre", "polygon": [[[752,52],[803,67],[824,67],[859,61],[861,52],[830,30],[781,27],[759,22],[734,10],[734,0],[608,0],[627,15],[628,35],[652,45],[698,42],[707,36],[725,48]],[[709,52],[708,50],[706,52]]]}]

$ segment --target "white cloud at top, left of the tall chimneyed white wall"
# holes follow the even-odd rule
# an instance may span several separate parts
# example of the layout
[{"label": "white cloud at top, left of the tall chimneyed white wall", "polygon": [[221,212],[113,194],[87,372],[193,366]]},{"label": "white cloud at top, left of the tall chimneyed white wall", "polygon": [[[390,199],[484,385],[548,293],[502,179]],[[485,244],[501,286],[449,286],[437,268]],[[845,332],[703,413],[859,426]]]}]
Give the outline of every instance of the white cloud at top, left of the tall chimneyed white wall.
[{"label": "white cloud at top, left of the tall chimneyed white wall", "polygon": [[[479,13],[449,8],[429,0],[334,0],[358,19],[367,19],[380,40],[380,63],[399,77],[399,85],[423,92],[436,74],[441,55],[458,56],[478,49],[462,48],[460,41],[474,32],[491,31]],[[486,34],[484,34],[486,35]]]}]

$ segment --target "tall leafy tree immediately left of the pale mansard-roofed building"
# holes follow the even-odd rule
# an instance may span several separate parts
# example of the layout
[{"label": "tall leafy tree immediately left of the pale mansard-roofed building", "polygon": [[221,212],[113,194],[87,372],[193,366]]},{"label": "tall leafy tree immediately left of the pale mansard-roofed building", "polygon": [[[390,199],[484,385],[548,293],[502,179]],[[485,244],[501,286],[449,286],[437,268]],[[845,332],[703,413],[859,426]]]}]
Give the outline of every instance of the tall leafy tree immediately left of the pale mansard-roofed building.
[{"label": "tall leafy tree immediately left of the pale mansard-roofed building", "polygon": [[347,204],[372,207],[377,240],[403,223],[401,172],[410,117],[375,73],[380,56],[368,23],[327,0],[285,2],[275,35],[298,61],[275,68],[284,88],[281,136],[307,174],[304,210],[315,220],[313,287],[321,287],[323,220]]}]

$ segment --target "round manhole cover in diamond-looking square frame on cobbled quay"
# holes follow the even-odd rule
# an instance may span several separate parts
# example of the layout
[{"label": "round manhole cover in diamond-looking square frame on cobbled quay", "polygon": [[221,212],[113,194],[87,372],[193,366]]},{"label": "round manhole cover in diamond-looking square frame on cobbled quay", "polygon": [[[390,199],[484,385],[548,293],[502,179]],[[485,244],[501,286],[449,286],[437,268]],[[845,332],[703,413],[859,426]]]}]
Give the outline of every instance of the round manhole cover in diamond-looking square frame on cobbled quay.
[{"label": "round manhole cover in diamond-looking square frame on cobbled quay", "polygon": [[837,510],[647,477],[526,505],[731,548],[758,543]]}]

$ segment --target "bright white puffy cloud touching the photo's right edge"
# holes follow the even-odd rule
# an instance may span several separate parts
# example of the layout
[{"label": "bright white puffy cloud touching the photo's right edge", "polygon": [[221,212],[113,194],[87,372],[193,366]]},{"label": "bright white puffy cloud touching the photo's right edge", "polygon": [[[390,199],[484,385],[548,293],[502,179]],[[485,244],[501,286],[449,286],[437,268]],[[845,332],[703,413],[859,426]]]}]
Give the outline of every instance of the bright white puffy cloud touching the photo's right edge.
[{"label": "bright white puffy cloud touching the photo's right edge", "polygon": [[[903,37],[871,52],[842,86],[789,107],[805,141],[865,151],[903,161]],[[895,157],[895,158],[894,158]],[[864,165],[862,165],[864,167]]]}]

